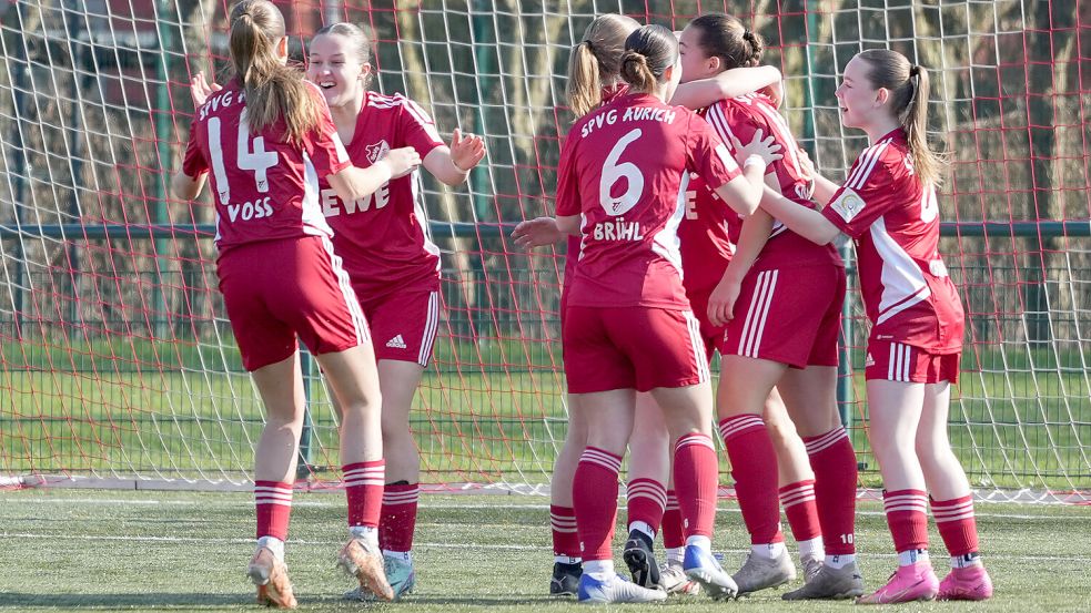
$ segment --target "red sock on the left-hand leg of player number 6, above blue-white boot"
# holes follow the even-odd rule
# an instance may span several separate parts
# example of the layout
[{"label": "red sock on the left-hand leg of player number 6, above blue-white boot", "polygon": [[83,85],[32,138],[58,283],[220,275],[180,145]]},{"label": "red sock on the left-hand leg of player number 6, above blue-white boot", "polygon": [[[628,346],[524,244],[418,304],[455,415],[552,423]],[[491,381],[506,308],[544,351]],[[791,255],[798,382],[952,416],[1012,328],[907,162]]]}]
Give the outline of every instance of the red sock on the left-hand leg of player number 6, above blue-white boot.
[{"label": "red sock on the left-hand leg of player number 6, above blue-white boot", "polygon": [[613,560],[614,522],[617,521],[617,473],[622,458],[588,447],[576,464],[572,486],[573,510],[584,562]]}]

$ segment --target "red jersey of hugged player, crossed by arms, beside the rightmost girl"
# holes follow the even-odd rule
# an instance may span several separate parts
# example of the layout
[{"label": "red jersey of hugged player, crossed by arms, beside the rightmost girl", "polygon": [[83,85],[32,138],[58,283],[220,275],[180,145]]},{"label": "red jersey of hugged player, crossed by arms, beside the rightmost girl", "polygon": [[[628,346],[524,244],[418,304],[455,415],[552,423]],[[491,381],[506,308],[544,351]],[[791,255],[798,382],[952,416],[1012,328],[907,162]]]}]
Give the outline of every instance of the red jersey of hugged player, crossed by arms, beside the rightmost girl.
[{"label": "red jersey of hugged player, crossed by arms, beside the rightmost girl", "polygon": [[[764,137],[772,136],[781,147],[779,153],[782,157],[766,168],[766,184],[800,206],[817,208],[808,197],[808,182],[799,163],[799,145],[791,135],[788,122],[768,96],[751,93],[723,100],[709,106],[705,116],[733,155],[736,154],[735,142],[749,143],[758,130]],[[769,241],[761,249],[755,268],[768,269],[816,260],[843,265],[834,245],[815,245],[774,219]]]}]

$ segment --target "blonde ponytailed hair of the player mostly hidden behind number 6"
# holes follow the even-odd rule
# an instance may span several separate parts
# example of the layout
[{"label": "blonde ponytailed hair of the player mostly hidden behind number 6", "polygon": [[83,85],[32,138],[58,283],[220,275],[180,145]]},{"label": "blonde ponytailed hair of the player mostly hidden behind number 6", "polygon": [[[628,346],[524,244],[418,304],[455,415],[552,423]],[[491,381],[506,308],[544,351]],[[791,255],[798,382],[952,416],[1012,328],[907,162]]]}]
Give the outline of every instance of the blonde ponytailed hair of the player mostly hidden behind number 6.
[{"label": "blonde ponytailed hair of the player mostly hidden behind number 6", "polygon": [[584,31],[583,41],[572,48],[565,98],[576,118],[602,104],[603,88],[617,82],[625,39],[639,27],[635,19],[625,16],[599,16]]}]

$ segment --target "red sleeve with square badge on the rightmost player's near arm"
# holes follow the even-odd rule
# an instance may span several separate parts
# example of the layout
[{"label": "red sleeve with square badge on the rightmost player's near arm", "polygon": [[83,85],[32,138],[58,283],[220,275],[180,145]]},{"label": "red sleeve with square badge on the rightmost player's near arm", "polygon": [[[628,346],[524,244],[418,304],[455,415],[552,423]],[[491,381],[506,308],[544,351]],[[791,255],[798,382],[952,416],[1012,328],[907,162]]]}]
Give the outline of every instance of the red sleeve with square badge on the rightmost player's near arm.
[{"label": "red sleeve with square badge on the rightmost player's near arm", "polygon": [[841,232],[859,238],[876,219],[898,202],[898,185],[890,168],[890,160],[882,154],[886,144],[868,147],[852,164],[845,184],[834,194],[829,206],[822,210]]}]

